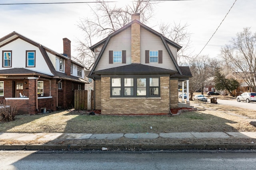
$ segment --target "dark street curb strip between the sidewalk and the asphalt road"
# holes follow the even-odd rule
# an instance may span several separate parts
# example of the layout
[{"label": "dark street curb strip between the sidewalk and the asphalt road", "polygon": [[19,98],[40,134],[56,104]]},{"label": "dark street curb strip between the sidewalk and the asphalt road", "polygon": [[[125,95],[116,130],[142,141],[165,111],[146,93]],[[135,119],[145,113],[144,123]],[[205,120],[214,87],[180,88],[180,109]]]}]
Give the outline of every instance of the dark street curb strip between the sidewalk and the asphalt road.
[{"label": "dark street curb strip between the sidewalk and the asphalt road", "polygon": [[108,150],[238,150],[256,149],[256,144],[146,144],[146,145],[1,145],[0,150],[102,150],[102,148],[108,148]]}]

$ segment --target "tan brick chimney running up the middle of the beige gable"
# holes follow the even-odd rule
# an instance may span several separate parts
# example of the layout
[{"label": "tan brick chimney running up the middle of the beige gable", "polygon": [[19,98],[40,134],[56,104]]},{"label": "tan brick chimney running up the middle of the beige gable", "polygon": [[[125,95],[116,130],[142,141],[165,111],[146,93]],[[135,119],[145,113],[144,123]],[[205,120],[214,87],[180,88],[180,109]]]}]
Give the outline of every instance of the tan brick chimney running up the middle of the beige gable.
[{"label": "tan brick chimney running up the middle of the beige gable", "polygon": [[[140,21],[140,14],[132,14],[132,21]],[[132,63],[140,63],[140,24],[132,23],[131,57]]]}]

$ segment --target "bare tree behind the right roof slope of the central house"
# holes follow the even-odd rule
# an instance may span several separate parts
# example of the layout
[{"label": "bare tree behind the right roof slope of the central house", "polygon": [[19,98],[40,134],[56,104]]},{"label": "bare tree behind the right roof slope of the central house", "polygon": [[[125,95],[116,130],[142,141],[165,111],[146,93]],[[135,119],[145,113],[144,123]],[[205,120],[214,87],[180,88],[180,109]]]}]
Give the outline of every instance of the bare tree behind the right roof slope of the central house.
[{"label": "bare tree behind the right roof slope of the central house", "polygon": [[192,51],[189,51],[191,48],[190,35],[191,33],[188,31],[188,23],[182,25],[181,23],[164,23],[161,22],[159,25],[160,33],[164,35],[164,37],[172,40],[173,42],[182,46],[182,49],[178,51],[178,63],[184,64],[190,61],[190,55]]}]

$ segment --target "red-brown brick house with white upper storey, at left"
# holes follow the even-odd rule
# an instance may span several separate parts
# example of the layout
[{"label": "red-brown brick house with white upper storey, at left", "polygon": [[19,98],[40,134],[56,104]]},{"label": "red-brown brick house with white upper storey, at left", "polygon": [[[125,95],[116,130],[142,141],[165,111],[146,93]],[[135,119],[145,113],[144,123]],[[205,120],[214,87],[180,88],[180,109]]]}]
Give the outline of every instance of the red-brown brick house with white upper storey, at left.
[{"label": "red-brown brick house with white upper storey, at left", "polygon": [[12,32],[0,39],[0,98],[18,114],[44,113],[74,106],[74,90],[84,90],[84,66],[71,60],[70,40],[63,54]]}]

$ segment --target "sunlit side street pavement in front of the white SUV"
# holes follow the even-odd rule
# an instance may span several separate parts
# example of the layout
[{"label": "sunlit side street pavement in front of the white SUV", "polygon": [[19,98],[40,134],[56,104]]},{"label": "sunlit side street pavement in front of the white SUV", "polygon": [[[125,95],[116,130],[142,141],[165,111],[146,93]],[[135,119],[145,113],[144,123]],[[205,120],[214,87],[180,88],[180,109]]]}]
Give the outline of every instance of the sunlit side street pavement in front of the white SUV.
[{"label": "sunlit side street pavement in front of the white SUV", "polygon": [[[209,100],[208,100],[209,101]],[[217,99],[218,104],[221,105],[228,105],[228,106],[235,106],[235,107],[241,107],[245,109],[251,109],[251,110],[256,110],[256,102],[237,102],[235,99],[234,100],[219,100]]]}]

